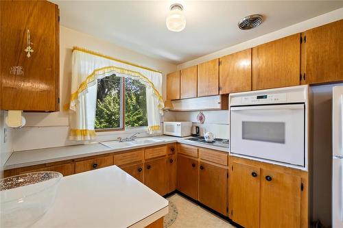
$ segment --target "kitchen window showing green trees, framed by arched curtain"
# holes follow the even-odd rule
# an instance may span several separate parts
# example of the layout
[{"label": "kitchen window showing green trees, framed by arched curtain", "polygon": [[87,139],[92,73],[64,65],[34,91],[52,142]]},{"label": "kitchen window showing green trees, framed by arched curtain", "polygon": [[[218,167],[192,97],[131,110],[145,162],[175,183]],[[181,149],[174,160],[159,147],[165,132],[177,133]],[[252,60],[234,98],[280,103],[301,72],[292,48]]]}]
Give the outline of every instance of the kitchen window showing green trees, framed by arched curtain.
[{"label": "kitchen window showing green trees, framed by arched curtain", "polygon": [[140,81],[116,75],[97,80],[96,131],[146,126],[146,88]]}]

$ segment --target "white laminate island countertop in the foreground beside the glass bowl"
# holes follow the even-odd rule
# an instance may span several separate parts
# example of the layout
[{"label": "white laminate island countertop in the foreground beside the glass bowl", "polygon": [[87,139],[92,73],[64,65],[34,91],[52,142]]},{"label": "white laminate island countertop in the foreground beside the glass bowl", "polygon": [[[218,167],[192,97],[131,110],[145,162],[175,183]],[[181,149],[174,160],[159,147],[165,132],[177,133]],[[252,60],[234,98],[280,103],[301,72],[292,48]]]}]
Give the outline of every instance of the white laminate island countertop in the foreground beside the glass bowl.
[{"label": "white laminate island countertop in the foreground beside the glass bowl", "polygon": [[168,201],[117,166],[63,177],[54,205],[32,227],[145,227]]}]

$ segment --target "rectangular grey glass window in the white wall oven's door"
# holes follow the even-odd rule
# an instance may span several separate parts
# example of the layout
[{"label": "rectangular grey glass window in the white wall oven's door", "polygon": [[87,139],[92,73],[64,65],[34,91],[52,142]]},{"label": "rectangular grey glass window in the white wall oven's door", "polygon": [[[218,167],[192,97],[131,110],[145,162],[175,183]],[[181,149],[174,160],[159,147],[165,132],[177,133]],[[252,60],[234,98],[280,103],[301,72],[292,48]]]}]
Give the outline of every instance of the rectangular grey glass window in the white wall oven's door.
[{"label": "rectangular grey glass window in the white wall oven's door", "polygon": [[285,123],[243,121],[242,138],[285,144]]}]

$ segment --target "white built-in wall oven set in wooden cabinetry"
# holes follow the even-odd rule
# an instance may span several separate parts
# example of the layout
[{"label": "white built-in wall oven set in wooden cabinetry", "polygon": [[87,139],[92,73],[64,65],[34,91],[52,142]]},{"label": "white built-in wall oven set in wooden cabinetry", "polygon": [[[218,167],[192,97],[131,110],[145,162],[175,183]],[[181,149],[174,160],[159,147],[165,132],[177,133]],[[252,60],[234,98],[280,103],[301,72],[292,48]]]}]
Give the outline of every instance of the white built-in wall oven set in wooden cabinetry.
[{"label": "white built-in wall oven set in wooden cabinetry", "polygon": [[307,169],[308,87],[230,94],[230,153]]}]

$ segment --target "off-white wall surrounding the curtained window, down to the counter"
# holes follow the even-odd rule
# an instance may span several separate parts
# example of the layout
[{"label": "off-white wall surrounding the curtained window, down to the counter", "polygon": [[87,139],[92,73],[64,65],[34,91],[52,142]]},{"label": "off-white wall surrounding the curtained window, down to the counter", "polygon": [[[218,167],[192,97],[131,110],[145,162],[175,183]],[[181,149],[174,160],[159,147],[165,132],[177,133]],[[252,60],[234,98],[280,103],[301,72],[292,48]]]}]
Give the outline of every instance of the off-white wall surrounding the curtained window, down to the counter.
[{"label": "off-white wall surrounding the curtained window, down to the counter", "polygon": [[[46,147],[59,147],[80,142],[68,140],[69,119],[68,112],[63,105],[69,102],[71,94],[71,53],[74,46],[83,47],[125,60],[141,66],[150,67],[163,73],[163,97],[165,97],[165,75],[176,71],[176,65],[162,60],[147,57],[140,53],[123,49],[113,43],[83,34],[79,31],[60,27],[60,112],[37,113],[26,112],[26,125],[22,129],[13,130],[13,149],[22,151]],[[119,133],[121,134],[121,133]],[[106,134],[100,134],[99,140],[104,140]],[[108,139],[117,138],[117,134],[108,134]]]}]

